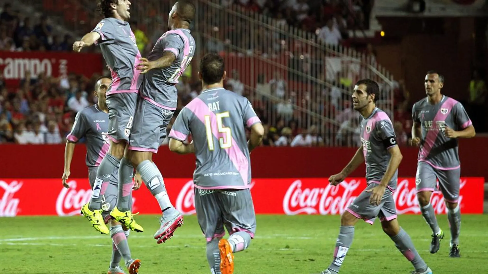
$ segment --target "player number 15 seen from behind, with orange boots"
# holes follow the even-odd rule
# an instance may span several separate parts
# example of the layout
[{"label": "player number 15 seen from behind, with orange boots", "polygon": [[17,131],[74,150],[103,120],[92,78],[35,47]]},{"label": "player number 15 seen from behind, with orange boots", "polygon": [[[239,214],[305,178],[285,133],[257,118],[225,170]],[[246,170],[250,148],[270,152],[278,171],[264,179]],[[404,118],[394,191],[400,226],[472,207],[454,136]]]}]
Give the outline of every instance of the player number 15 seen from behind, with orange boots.
[{"label": "player number 15 seen from behind, with orange boots", "polygon": [[[264,128],[246,98],[224,90],[220,55],[205,55],[198,75],[202,93],[176,118],[169,149],[196,154],[195,209],[207,240],[210,272],[232,274],[233,254],[246,249],[256,232],[249,151],[261,143]],[[248,142],[245,127],[250,128]],[[193,142],[184,144],[190,133]],[[228,239],[223,238],[224,227]]]}]

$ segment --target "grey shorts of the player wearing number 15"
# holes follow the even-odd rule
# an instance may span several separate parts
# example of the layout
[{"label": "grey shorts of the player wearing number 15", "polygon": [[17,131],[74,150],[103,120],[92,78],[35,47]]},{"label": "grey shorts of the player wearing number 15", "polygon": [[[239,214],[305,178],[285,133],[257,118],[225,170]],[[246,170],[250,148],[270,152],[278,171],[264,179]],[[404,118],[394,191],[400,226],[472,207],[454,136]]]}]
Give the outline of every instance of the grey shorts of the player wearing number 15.
[{"label": "grey shorts of the player wearing number 15", "polygon": [[256,215],[249,189],[198,189],[195,187],[195,210],[207,241],[238,231],[251,238],[256,233]]}]

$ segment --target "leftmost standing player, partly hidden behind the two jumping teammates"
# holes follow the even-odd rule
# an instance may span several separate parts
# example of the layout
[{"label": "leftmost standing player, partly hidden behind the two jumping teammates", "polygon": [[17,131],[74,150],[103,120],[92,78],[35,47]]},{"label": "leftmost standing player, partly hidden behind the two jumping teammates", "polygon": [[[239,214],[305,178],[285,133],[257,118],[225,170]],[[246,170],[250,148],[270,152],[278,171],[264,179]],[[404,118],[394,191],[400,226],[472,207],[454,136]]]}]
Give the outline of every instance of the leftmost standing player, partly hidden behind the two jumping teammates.
[{"label": "leftmost standing player, partly hidden behind the two jumping teammates", "polygon": [[[86,165],[88,166],[88,180],[90,186],[93,188],[95,178],[97,176],[97,169],[102,162],[103,156],[108,151],[108,110],[105,101],[105,92],[110,86],[111,79],[102,76],[95,84],[95,96],[98,97],[98,103],[91,107],[78,112],[75,118],[75,123],[71,132],[66,137],[66,148],[64,150],[64,173],[62,175],[62,183],[64,187],[70,186],[66,183],[70,175],[71,159],[75,145],[81,138],[86,138]],[[110,219],[109,212],[115,207],[118,196],[118,169],[115,168],[110,183],[106,185],[105,194],[102,196],[102,216],[108,221]],[[132,199],[131,199],[132,200]],[[112,260],[108,269],[108,274],[123,274],[119,262],[123,257],[125,265],[130,274],[138,272],[141,265],[139,259],[132,259],[130,249],[127,242],[129,237],[129,230],[122,224],[110,219],[110,236],[113,241]]]}]

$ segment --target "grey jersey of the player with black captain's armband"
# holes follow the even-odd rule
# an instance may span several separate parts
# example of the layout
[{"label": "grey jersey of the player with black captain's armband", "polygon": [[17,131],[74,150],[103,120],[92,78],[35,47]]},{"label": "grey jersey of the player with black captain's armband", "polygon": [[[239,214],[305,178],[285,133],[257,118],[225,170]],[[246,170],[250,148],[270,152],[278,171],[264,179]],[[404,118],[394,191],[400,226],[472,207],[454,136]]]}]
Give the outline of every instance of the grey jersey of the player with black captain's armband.
[{"label": "grey jersey of the player with black captain's armband", "polygon": [[[390,162],[388,148],[397,146],[393,125],[383,110],[376,108],[369,117],[361,117],[361,143],[366,163],[366,181],[379,183]],[[397,180],[398,170],[395,171],[388,187],[396,189]]]}]

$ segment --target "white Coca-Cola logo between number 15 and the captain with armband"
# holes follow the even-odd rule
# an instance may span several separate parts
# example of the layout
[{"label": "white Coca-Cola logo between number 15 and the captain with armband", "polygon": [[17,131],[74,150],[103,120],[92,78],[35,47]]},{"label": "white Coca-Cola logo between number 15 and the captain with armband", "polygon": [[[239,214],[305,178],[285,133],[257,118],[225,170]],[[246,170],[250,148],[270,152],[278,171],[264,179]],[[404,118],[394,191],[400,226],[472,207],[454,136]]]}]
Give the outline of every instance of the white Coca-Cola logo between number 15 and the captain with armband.
[{"label": "white Coca-Cola logo between number 15 and the captain with armband", "polygon": [[327,182],[325,187],[302,189],[302,181],[296,180],[286,191],[283,199],[283,210],[286,215],[300,213],[342,214],[347,206],[356,199],[352,193],[360,183],[360,181],[351,180],[333,186]]}]

